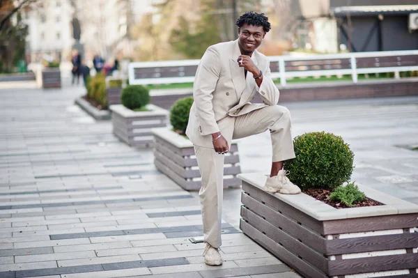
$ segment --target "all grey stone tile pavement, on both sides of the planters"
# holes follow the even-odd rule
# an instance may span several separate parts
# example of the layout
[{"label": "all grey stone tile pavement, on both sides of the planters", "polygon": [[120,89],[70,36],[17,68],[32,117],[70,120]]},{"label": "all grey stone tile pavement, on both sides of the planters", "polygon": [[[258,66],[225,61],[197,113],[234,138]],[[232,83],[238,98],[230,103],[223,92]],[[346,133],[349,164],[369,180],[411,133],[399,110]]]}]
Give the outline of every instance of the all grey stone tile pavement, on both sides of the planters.
[{"label": "all grey stone tile pavement, on both sides of the planters", "polygon": [[[158,172],[73,100],[82,87],[0,89],[0,277],[300,277],[240,233],[241,190],[224,194],[222,267],[208,267],[196,192]],[[285,104],[293,135],[340,134],[353,180],[418,203],[418,98]],[[265,171],[270,138],[239,143],[243,172]]]}]

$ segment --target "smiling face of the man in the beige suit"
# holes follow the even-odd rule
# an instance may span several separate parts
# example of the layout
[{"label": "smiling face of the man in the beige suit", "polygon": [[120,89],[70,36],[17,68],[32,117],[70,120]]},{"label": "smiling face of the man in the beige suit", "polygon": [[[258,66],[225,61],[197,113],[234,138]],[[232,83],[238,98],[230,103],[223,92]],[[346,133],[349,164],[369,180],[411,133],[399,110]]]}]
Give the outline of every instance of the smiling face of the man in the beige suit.
[{"label": "smiling face of the man in the beige suit", "polygon": [[249,24],[238,28],[238,45],[242,54],[252,54],[257,47],[261,45],[265,33],[263,26],[254,26]]}]

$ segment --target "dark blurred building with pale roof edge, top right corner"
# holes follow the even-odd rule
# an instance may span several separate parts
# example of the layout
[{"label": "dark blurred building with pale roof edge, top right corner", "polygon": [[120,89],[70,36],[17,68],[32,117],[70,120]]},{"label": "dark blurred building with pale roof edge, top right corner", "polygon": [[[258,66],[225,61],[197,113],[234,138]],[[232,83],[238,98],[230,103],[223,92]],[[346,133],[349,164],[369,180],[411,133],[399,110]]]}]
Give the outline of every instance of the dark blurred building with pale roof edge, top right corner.
[{"label": "dark blurred building with pale roof edge, top right corner", "polygon": [[399,4],[418,1],[381,1],[392,5],[366,6],[368,2],[372,1],[330,8],[339,26],[340,44],[353,52],[418,49],[418,5]]}]

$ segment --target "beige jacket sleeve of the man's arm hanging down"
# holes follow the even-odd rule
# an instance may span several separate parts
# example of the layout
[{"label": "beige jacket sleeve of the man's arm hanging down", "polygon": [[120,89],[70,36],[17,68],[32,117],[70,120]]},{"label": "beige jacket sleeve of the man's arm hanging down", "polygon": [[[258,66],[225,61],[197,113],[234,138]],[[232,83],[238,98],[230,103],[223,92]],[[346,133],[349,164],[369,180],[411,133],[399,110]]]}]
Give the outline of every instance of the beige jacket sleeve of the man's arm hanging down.
[{"label": "beige jacket sleeve of the man's arm hanging down", "polygon": [[193,98],[196,103],[201,135],[219,132],[212,107],[212,93],[215,91],[221,68],[219,53],[214,47],[209,47],[199,63],[193,86]]}]

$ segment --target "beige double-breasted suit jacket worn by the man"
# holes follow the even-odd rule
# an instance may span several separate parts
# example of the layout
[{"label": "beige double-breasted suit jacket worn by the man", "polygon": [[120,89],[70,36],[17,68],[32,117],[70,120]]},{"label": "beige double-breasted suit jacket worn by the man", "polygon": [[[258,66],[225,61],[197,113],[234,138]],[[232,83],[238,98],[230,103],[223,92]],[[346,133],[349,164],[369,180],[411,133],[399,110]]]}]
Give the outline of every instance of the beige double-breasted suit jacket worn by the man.
[{"label": "beige double-breasted suit jacket worn by the man", "polygon": [[[268,105],[277,105],[279,90],[270,77],[270,62],[255,51],[251,59],[263,71],[263,82],[258,87],[251,72],[245,78],[244,68],[238,65],[240,56],[238,40],[218,43],[208,47],[196,70],[193,86],[194,103],[190,109],[187,137],[196,146],[213,148],[215,132],[229,141],[234,128],[234,118]],[[263,103],[250,101],[260,94]]]}]

